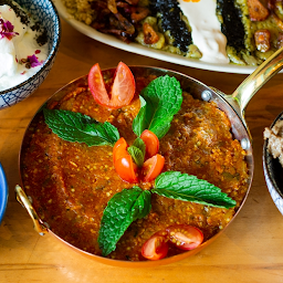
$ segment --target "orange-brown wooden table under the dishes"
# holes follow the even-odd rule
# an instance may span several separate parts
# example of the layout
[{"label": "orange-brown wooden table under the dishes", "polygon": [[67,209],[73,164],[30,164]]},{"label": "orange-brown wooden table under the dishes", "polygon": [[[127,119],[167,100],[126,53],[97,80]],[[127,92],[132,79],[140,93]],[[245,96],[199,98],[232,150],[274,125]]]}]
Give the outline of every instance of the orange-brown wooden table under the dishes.
[{"label": "orange-brown wooden table under the dishes", "polygon": [[283,74],[258,92],[247,108],[253,136],[255,171],[250,195],[229,228],[207,249],[180,262],[154,269],[123,269],[94,262],[53,237],[40,237],[14,197],[20,182],[18,155],[25,127],[36,109],[56,90],[86,74],[98,62],[102,69],[153,65],[184,72],[209,86],[232,93],[247,77],[175,65],[127,53],[96,42],[62,21],[62,42],[48,78],[29,98],[0,111],[0,161],[9,182],[9,203],[0,226],[0,283],[23,282],[283,282],[283,217],[268,191],[262,169],[262,133],[283,111]]}]

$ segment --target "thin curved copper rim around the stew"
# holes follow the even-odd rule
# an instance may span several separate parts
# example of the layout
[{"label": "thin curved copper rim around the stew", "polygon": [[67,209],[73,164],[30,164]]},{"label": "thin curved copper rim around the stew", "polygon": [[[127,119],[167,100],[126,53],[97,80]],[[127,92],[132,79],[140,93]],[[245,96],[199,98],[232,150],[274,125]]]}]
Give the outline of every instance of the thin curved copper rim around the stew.
[{"label": "thin curved copper rim around the stew", "polygon": [[[134,70],[134,69],[137,69],[137,70],[156,70],[156,71],[163,71],[165,73],[168,73],[168,74],[171,74],[171,75],[179,75],[181,77],[184,77],[185,80],[191,80],[193,81],[195,83],[203,86],[205,88],[209,88],[217,97],[219,97],[221,101],[223,101],[227,105],[230,106],[231,111],[235,114],[235,116],[239,118],[239,120],[241,122],[241,125],[243,127],[243,130],[245,133],[245,136],[247,138],[249,138],[249,133],[242,122],[242,119],[239,117],[239,115],[237,114],[237,112],[231,107],[231,105],[226,101],[226,98],[221,95],[219,95],[218,93],[216,93],[212,88],[208,87],[206,84],[199,82],[198,80],[193,78],[193,77],[190,77],[189,75],[187,74],[184,74],[184,73],[180,73],[180,72],[176,72],[176,71],[172,71],[172,70],[168,70],[168,69],[163,69],[163,67],[155,67],[155,66],[147,66],[147,65],[129,65],[129,69]],[[111,69],[106,69],[106,70],[102,70],[102,71],[115,71],[115,67],[111,67]],[[29,123],[27,129],[25,129],[25,133],[23,135],[23,139],[22,139],[22,144],[21,144],[21,148],[20,148],[20,151],[19,151],[19,169],[20,169],[20,179],[21,179],[21,184],[22,182],[22,175],[21,175],[21,151],[22,151],[22,146],[23,146],[23,140],[24,140],[24,137],[27,136],[27,133],[30,128],[30,125],[31,123],[33,122],[34,117],[42,111],[43,107],[45,107],[45,105],[49,103],[49,102],[52,102],[52,99],[56,96],[56,95],[63,95],[63,91],[71,86],[72,84],[75,84],[77,82],[80,82],[81,80],[86,80],[87,75],[83,75],[83,76],[80,76],[75,80],[72,80],[70,83],[67,83],[66,85],[64,85],[63,87],[61,87],[60,90],[57,90],[52,96],[50,96],[42,105],[41,107],[39,108],[39,111],[35,113],[35,115],[32,117],[31,122]],[[62,94],[61,94],[62,93]],[[249,138],[250,139],[250,138]],[[112,259],[108,259],[108,258],[103,258],[103,256],[99,256],[99,255],[95,255],[95,254],[92,254],[92,253],[88,253],[88,252],[85,252],[76,247],[74,247],[73,244],[66,242],[65,240],[63,240],[62,238],[60,238],[59,235],[56,235],[52,230],[49,229],[49,227],[46,227],[46,229],[49,230],[49,232],[51,234],[53,234],[56,239],[59,239],[60,241],[62,241],[63,243],[65,243],[66,245],[69,245],[70,248],[72,248],[73,250],[86,255],[86,256],[91,256],[92,259],[95,259],[97,261],[101,261],[102,263],[105,263],[105,264],[108,264],[108,265],[116,265],[116,266],[127,266],[127,268],[147,268],[147,266],[156,266],[156,265],[161,265],[161,264],[168,264],[168,263],[171,263],[171,262],[176,262],[176,261],[179,261],[179,260],[182,260],[185,258],[188,258],[189,255],[192,255],[197,252],[199,252],[200,250],[202,250],[205,247],[209,245],[211,242],[213,242],[220,234],[223,233],[223,231],[227,230],[227,228],[230,226],[230,223],[234,220],[234,218],[238,216],[238,213],[240,212],[240,210],[242,209],[247,198],[248,198],[248,195],[250,192],[250,188],[251,188],[251,185],[252,185],[252,179],[253,179],[253,171],[254,171],[254,160],[253,160],[253,153],[252,153],[252,143],[250,143],[250,148],[249,148],[249,158],[250,158],[250,161],[249,164],[251,165],[249,167],[249,187],[248,187],[248,190],[247,190],[247,193],[241,202],[241,205],[239,206],[239,208],[237,209],[233,218],[230,220],[230,222],[224,227],[224,229],[220,230],[217,234],[214,234],[212,238],[210,238],[208,241],[206,241],[205,243],[202,243],[200,247],[198,247],[197,249],[192,250],[192,251],[187,251],[187,252],[184,252],[181,254],[177,254],[177,255],[174,255],[174,256],[170,256],[170,258],[166,258],[166,259],[163,259],[163,260],[158,260],[158,261],[140,261],[140,262],[130,262],[130,261],[118,261],[118,260],[112,260]],[[247,161],[248,163],[248,161]],[[41,220],[41,222],[44,224],[44,222]],[[44,224],[45,226],[45,224]]]}]

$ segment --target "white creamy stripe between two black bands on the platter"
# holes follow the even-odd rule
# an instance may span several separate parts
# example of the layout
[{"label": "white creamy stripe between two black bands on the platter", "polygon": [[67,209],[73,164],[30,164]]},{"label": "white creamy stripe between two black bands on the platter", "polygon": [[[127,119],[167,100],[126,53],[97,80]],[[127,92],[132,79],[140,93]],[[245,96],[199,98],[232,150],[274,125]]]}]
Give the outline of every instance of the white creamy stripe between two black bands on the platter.
[{"label": "white creamy stripe between two black bands on the platter", "polygon": [[190,2],[178,0],[182,13],[191,27],[191,39],[202,53],[200,61],[208,63],[229,63],[226,52],[227,38],[221,32],[216,15],[216,0]]}]

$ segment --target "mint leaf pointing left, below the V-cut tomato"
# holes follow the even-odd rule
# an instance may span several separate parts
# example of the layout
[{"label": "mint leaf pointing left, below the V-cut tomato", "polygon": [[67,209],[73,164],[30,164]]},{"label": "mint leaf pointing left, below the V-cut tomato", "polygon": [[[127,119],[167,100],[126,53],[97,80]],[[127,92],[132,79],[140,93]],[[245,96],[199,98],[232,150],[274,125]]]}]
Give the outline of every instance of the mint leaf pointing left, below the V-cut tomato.
[{"label": "mint leaf pointing left, below the V-cut tomato", "polygon": [[67,142],[87,146],[114,146],[119,133],[111,123],[99,123],[87,115],[62,109],[43,108],[45,123],[54,134]]}]

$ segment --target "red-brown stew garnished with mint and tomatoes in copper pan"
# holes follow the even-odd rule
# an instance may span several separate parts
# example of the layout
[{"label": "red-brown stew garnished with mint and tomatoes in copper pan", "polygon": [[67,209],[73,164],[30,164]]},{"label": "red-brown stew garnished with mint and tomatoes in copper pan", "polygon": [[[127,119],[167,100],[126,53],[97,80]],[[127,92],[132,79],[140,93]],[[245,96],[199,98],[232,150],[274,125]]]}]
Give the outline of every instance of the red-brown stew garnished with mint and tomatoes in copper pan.
[{"label": "red-brown stew garnished with mint and tomatoes in copper pan", "polygon": [[[193,250],[243,202],[245,151],[214,102],[193,98],[174,76],[136,69],[133,82],[117,70],[103,80],[94,66],[38,113],[21,150],[24,191],[53,233],[88,254],[146,261]],[[134,83],[124,105],[120,90],[132,95]]]}]

